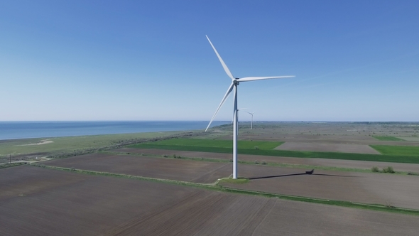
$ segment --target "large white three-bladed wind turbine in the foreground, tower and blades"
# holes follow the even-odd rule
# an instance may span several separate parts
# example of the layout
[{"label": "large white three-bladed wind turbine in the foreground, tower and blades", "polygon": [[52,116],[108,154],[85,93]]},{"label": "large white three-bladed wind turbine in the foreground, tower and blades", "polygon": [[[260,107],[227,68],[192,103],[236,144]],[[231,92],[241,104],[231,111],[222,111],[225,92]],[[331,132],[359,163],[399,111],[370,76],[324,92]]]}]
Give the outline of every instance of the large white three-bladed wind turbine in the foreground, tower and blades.
[{"label": "large white three-bladed wind turbine in the foreground, tower and blades", "polygon": [[[217,54],[217,57],[219,59],[219,62],[221,63],[222,67],[224,68],[224,71],[227,73],[227,75],[232,79],[232,84],[227,89],[226,94],[222,98],[221,102],[219,103],[219,106],[217,110],[215,111],[214,115],[211,118],[211,121],[209,121],[209,124],[207,126],[207,129],[209,128],[209,125],[211,125],[212,120],[214,120],[215,116],[217,115],[219,109],[222,107],[222,104],[227,100],[227,97],[229,97],[230,92],[234,89],[234,107],[233,107],[233,178],[237,178],[237,122],[238,122],[238,110],[237,110],[237,85],[239,85],[239,82],[248,82],[248,81],[254,81],[254,80],[269,80],[269,79],[279,79],[279,78],[286,78],[286,77],[294,77],[293,75],[287,75],[287,76],[270,76],[270,77],[242,77],[242,78],[236,78],[232,75],[229,68],[227,68],[227,65],[224,63],[222,58],[219,56],[217,50],[214,48],[214,45],[212,45],[211,41],[209,40],[208,36],[207,39],[209,41],[209,44],[211,44],[212,49],[214,49],[215,54]],[[207,131],[205,129],[205,131]]]}]

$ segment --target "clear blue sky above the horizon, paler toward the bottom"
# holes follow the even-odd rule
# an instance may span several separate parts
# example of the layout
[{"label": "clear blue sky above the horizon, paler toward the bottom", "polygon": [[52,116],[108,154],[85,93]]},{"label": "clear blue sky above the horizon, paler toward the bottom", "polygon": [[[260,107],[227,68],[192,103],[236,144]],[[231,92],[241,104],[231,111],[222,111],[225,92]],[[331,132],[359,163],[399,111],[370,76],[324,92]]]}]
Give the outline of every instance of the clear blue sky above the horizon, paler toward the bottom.
[{"label": "clear blue sky above the horizon, paler toward the bottom", "polygon": [[[0,121],[419,121],[419,1],[1,1]],[[232,119],[232,96],[216,120]],[[249,121],[250,115],[240,115]]]}]

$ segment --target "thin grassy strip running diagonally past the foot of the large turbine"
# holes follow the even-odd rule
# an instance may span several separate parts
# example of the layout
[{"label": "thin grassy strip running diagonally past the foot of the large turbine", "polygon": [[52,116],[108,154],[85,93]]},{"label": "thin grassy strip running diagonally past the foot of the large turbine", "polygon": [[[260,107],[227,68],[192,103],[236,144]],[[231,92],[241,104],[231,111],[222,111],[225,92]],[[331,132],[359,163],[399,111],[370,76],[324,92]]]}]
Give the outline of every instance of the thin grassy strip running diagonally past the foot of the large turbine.
[{"label": "thin grassy strip running diagonally past the foot of the large turbine", "polygon": [[378,210],[378,211],[384,211],[388,213],[402,213],[402,214],[408,214],[408,215],[418,215],[419,216],[419,210],[414,209],[406,209],[406,208],[396,208],[392,206],[386,206],[386,205],[380,205],[380,204],[364,204],[364,203],[352,203],[348,201],[342,201],[342,200],[327,200],[327,199],[321,199],[321,198],[307,198],[303,196],[295,196],[295,195],[283,195],[278,193],[266,193],[266,192],[259,192],[259,191],[247,191],[237,188],[230,188],[230,187],[224,187],[217,184],[205,184],[205,183],[191,183],[186,181],[173,181],[168,179],[161,179],[161,178],[149,178],[149,177],[143,177],[143,176],[131,176],[126,174],[120,174],[120,173],[109,173],[109,172],[101,172],[101,171],[87,171],[87,170],[79,170],[74,168],[63,168],[63,167],[56,167],[56,166],[44,166],[44,165],[38,165],[38,164],[32,164],[31,166],[37,166],[37,167],[43,167],[43,168],[50,168],[60,171],[70,171],[73,173],[83,173],[83,174],[89,174],[94,176],[111,176],[111,177],[118,177],[118,178],[131,178],[131,179],[138,179],[141,181],[153,181],[153,182],[160,182],[160,183],[170,183],[170,184],[176,184],[180,186],[190,186],[195,188],[204,188],[211,191],[219,191],[224,193],[236,193],[236,194],[245,194],[245,195],[256,195],[264,198],[278,198],[283,200],[296,200],[300,202],[305,203],[319,203],[324,205],[335,205],[335,206],[341,206],[341,207],[347,207],[347,208],[358,208],[363,210]]}]

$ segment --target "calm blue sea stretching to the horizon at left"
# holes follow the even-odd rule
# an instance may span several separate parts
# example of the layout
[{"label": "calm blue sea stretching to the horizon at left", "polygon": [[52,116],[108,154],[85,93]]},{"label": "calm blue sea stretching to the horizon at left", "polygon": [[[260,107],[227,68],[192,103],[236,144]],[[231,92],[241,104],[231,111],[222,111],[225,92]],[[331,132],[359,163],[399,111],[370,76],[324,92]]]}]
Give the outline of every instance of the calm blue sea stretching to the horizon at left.
[{"label": "calm blue sea stretching to the horizon at left", "polygon": [[[229,124],[212,122],[211,127]],[[208,122],[0,122],[0,140],[204,130]]]}]

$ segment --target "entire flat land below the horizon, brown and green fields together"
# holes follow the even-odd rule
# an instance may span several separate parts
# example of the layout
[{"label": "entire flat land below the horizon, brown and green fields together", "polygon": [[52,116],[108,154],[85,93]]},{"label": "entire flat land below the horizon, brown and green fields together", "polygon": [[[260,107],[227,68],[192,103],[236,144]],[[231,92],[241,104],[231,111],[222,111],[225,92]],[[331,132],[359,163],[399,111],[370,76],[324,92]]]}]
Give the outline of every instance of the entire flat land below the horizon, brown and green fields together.
[{"label": "entire flat land below the horizon, brown and green fields together", "polygon": [[239,181],[217,181],[232,173],[229,125],[1,141],[1,165],[53,159],[0,168],[0,235],[417,235],[419,213],[401,208],[419,210],[418,125],[248,126]]}]

